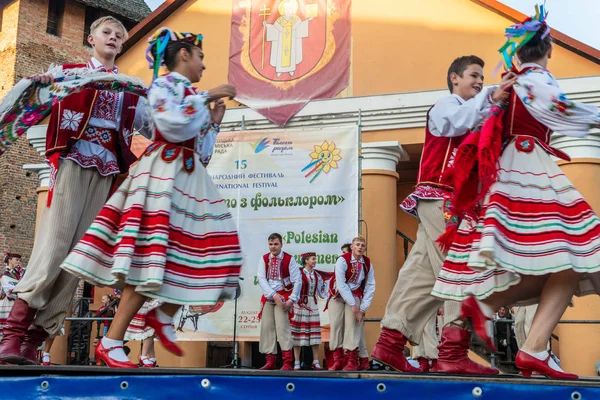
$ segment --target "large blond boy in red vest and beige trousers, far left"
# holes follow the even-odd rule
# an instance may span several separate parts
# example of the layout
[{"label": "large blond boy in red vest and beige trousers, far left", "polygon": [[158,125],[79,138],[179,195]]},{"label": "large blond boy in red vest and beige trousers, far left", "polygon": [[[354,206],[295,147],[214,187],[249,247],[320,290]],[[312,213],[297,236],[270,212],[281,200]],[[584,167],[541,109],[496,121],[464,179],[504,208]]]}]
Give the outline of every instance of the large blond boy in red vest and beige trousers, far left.
[{"label": "large blond boy in red vest and beige trousers, far left", "polygon": [[23,79],[0,104],[0,153],[51,115],[47,207],[27,274],[13,290],[17,300],[0,343],[0,361],[37,364],[38,347],[59,334],[79,282],[59,265],[108,199],[115,177],[135,161],[129,145],[134,126],[143,126],[143,108],[138,112],[137,106],[146,89],[143,82],[117,74],[115,57],[126,39],[115,18],[95,21],[88,36],[94,56],[87,64],[52,67]]}]

